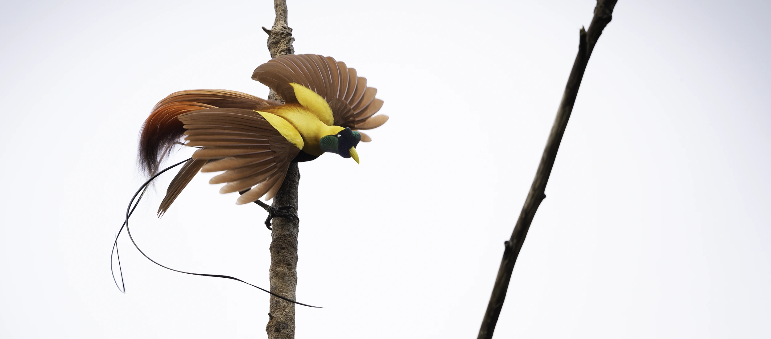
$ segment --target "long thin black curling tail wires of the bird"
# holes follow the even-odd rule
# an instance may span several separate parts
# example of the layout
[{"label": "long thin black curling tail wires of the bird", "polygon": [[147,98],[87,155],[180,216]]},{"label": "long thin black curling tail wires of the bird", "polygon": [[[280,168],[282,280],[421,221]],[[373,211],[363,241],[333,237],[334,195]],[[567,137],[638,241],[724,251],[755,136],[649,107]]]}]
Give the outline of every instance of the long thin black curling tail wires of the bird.
[{"label": "long thin black curling tail wires of the bird", "polygon": [[[301,302],[298,302],[298,301],[295,301],[295,300],[291,300],[288,297],[283,297],[281,295],[274,294],[270,290],[265,290],[264,288],[259,287],[257,285],[249,284],[249,283],[247,283],[244,280],[238,279],[237,277],[231,277],[231,276],[226,276],[226,275],[221,275],[221,274],[202,274],[202,273],[185,272],[183,270],[175,270],[175,269],[173,269],[171,267],[167,267],[167,266],[164,266],[164,265],[158,263],[157,261],[155,261],[152,258],[148,257],[147,254],[145,254],[142,250],[140,250],[139,245],[136,244],[136,241],[134,241],[134,238],[131,236],[131,230],[129,229],[129,217],[131,216],[131,214],[134,213],[134,210],[136,210],[136,206],[139,205],[140,200],[142,200],[142,197],[144,196],[144,193],[147,191],[148,185],[150,185],[150,183],[153,182],[153,180],[155,180],[155,178],[157,178],[158,176],[160,176],[161,174],[163,174],[164,172],[166,172],[169,169],[173,169],[174,167],[180,166],[183,163],[187,163],[187,161],[189,161],[190,159],[192,159],[192,158],[188,158],[188,159],[185,159],[183,161],[180,161],[179,163],[175,163],[172,166],[168,166],[167,168],[163,169],[162,171],[156,173],[154,176],[151,176],[150,179],[148,179],[142,186],[140,186],[139,190],[136,190],[136,193],[134,193],[134,196],[131,197],[131,200],[129,201],[129,206],[126,207],[126,219],[123,220],[123,225],[120,227],[120,230],[118,230],[118,234],[115,236],[115,241],[113,242],[113,250],[109,253],[109,270],[110,270],[110,273],[113,274],[113,281],[115,282],[115,286],[118,287],[118,290],[120,290],[120,292],[122,292],[124,294],[126,293],[126,283],[125,283],[125,281],[123,281],[123,268],[120,265],[120,253],[118,252],[118,237],[120,237],[120,233],[123,232],[123,228],[126,228],[126,233],[129,234],[129,239],[131,240],[131,243],[133,243],[134,247],[136,247],[136,250],[140,251],[140,253],[142,253],[142,255],[144,257],[146,257],[147,260],[150,260],[153,263],[155,263],[156,265],[158,265],[160,267],[163,267],[163,268],[165,268],[167,270],[173,270],[175,272],[179,272],[179,273],[183,273],[183,274],[192,274],[192,275],[204,276],[204,277],[217,277],[217,278],[225,278],[225,279],[241,281],[242,283],[247,284],[247,285],[249,285],[251,287],[257,287],[260,290],[264,290],[265,292],[268,292],[268,294],[271,294],[274,297],[278,297],[278,298],[281,298],[283,300],[287,300],[290,303],[298,304],[298,305],[302,305],[302,306],[307,306],[307,307],[322,308],[322,307],[318,307],[318,306],[312,306],[312,305],[308,305],[308,304],[303,304]],[[136,199],[136,196],[139,196],[139,199]],[[134,199],[136,199],[136,203],[134,203]],[[133,207],[131,206],[132,204],[133,204]],[[120,273],[120,285],[118,284],[118,280],[115,277],[115,270],[113,269],[113,253],[115,254],[115,257],[116,257],[116,259],[118,261],[118,272]]]}]

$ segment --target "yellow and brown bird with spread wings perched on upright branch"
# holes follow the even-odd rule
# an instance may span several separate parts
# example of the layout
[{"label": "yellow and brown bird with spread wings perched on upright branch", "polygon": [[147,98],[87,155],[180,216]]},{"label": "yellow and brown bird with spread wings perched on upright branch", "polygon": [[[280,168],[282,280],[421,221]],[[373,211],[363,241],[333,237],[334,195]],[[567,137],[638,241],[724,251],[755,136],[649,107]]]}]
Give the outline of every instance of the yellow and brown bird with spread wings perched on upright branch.
[{"label": "yellow and brown bird with spread wings perched on upright branch", "polygon": [[[359,129],[388,120],[375,116],[383,102],[355,69],[332,57],[281,55],[254,69],[252,79],[273,89],[284,104],[242,92],[199,89],[172,93],[157,103],[140,136],[140,163],[157,173],[161,160],[180,143],[198,147],[172,180],[158,213],[165,213],[200,172],[224,173],[220,193],[248,192],[237,203],[270,200],[291,162],[337,153],[358,163],[356,146],[369,142]],[[251,190],[249,190],[251,189]]]}]

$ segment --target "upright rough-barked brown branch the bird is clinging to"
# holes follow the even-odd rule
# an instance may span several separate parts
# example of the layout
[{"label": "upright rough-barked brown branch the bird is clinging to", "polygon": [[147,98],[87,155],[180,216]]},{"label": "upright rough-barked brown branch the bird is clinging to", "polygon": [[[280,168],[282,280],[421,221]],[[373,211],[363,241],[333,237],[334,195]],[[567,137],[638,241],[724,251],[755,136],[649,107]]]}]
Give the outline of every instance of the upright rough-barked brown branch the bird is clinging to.
[{"label": "upright rough-barked brown branch the bird is clinging to", "polygon": [[[276,20],[271,29],[262,28],[268,33],[268,50],[271,58],[279,55],[294,54],[291,29],[287,25],[286,0],[274,0]],[[271,89],[268,99],[284,102]],[[291,163],[284,177],[284,183],[273,198],[273,207],[295,206],[298,207],[297,189],[300,183],[300,169],[297,163]],[[300,231],[299,221],[294,218],[276,216],[273,219],[271,231],[271,292],[297,300],[297,245]],[[294,339],[295,338],[295,304],[278,297],[271,296],[270,313],[268,313],[268,326],[265,327],[269,339]]]}]

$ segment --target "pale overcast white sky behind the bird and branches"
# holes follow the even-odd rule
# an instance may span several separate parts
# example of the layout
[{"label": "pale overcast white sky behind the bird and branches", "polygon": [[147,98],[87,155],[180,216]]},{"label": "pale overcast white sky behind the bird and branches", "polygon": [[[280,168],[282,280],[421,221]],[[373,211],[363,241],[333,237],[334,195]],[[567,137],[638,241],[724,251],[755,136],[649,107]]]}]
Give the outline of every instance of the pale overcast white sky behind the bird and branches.
[{"label": "pale overcast white sky behind the bird and branches", "polygon": [[[475,337],[594,1],[290,0],[295,52],[385,101],[361,165],[300,166],[297,337]],[[0,337],[265,337],[268,294],[120,241],[140,126],[183,89],[267,96],[269,0],[0,3]],[[771,3],[621,0],[495,337],[771,336]],[[763,94],[765,93],[765,94]],[[185,159],[182,149],[171,161]],[[173,173],[132,230],[268,287],[266,213]]]}]

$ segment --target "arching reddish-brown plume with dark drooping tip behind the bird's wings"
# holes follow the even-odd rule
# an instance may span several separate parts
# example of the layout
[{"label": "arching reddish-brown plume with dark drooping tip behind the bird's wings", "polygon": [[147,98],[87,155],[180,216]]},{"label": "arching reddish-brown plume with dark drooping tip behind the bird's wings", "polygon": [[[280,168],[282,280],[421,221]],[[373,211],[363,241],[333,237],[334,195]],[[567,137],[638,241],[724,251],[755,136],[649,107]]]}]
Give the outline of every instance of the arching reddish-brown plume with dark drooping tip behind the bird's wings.
[{"label": "arching reddish-brown plume with dark drooping tip behind the bird's wings", "polygon": [[140,135],[139,162],[143,171],[152,176],[182,137],[185,129],[177,116],[200,109],[236,108],[260,109],[280,105],[279,102],[250,96],[226,89],[194,89],[172,93],[153,107]]}]

